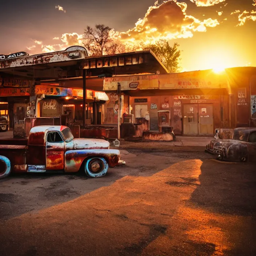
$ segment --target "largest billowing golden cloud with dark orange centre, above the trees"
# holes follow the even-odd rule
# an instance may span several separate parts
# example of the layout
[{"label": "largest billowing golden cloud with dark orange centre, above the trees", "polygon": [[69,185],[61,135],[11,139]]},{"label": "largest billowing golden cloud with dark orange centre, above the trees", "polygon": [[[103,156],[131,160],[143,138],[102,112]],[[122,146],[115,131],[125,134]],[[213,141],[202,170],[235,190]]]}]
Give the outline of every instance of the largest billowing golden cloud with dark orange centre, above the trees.
[{"label": "largest billowing golden cloud with dark orange centre, above the trees", "polygon": [[145,17],[139,19],[135,27],[127,32],[120,33],[122,41],[143,40],[145,43],[153,43],[159,39],[177,39],[193,36],[193,32],[205,32],[206,27],[216,27],[217,20],[200,21],[191,15],[186,15],[186,3],[177,0],[168,0],[149,7]]}]

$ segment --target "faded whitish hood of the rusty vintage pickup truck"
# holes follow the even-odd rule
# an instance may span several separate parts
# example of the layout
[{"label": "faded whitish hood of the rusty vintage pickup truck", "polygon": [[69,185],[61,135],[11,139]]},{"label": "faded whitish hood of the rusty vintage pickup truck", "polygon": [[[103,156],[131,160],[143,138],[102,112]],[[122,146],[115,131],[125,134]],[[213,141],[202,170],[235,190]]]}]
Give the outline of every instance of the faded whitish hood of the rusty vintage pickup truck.
[{"label": "faded whitish hood of the rusty vintage pickup truck", "polygon": [[99,139],[73,139],[74,149],[108,149],[109,142]]}]

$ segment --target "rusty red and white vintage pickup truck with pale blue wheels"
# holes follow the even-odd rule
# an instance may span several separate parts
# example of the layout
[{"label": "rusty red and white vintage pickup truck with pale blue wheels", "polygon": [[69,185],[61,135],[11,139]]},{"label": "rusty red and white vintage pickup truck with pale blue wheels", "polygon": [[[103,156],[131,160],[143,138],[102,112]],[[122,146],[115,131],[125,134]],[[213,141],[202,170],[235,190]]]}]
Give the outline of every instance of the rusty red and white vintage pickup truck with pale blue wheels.
[{"label": "rusty red and white vintage pickup truck with pale blue wheels", "polygon": [[0,140],[0,178],[12,172],[77,172],[104,176],[108,167],[125,164],[120,152],[99,139],[74,139],[66,126],[33,127],[28,139]]}]

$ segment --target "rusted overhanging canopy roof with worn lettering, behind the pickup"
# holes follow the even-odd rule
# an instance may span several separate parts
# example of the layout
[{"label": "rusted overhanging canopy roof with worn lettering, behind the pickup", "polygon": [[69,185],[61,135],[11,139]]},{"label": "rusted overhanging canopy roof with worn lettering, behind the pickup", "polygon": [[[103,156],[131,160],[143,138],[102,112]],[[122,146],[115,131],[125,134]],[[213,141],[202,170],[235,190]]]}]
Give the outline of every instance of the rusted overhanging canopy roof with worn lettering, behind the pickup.
[{"label": "rusted overhanging canopy roof with worn lettering, behind the pickup", "polygon": [[0,75],[2,76],[30,77],[31,80],[57,80],[81,77],[83,69],[88,70],[87,76],[168,73],[151,50],[88,56],[84,47],[72,46],[65,51],[31,56],[25,52],[0,55]]}]

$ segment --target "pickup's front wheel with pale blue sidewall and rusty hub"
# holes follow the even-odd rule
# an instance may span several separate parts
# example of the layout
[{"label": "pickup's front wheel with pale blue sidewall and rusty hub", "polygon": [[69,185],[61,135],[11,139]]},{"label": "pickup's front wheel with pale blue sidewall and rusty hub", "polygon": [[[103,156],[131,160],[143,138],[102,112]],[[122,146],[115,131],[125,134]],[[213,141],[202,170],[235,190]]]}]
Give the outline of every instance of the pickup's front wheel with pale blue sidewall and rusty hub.
[{"label": "pickup's front wheel with pale blue sidewall and rusty hub", "polygon": [[85,174],[88,177],[98,178],[108,171],[108,163],[103,157],[92,157],[85,163]]}]

